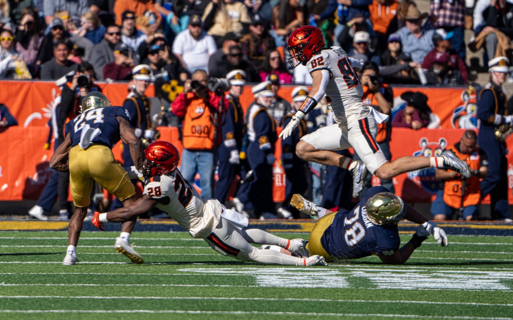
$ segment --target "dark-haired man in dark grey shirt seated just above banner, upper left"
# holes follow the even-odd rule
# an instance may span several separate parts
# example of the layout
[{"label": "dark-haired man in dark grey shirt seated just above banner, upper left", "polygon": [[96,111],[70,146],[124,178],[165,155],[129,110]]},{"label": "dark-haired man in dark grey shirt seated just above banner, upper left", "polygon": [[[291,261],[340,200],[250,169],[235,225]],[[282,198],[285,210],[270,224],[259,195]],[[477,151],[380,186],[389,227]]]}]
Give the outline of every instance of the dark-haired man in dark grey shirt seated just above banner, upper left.
[{"label": "dark-haired man in dark grey shirt seated just above banner, upper left", "polygon": [[78,65],[68,60],[71,44],[60,40],[53,49],[54,58],[45,62],[41,70],[41,79],[56,80],[70,71],[77,71]]}]

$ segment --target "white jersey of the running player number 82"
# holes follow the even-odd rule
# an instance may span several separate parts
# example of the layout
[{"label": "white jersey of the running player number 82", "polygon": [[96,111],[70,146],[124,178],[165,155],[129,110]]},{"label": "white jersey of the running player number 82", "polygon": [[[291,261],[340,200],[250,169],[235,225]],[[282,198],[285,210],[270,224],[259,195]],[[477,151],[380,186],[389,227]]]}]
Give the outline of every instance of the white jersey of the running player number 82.
[{"label": "white jersey of the running player number 82", "polygon": [[333,118],[341,125],[362,119],[370,114],[370,109],[362,102],[364,89],[356,75],[346,52],[340,47],[322,50],[310,58],[307,64],[310,74],[315,70],[330,71],[326,86],[328,102],[333,110]]}]

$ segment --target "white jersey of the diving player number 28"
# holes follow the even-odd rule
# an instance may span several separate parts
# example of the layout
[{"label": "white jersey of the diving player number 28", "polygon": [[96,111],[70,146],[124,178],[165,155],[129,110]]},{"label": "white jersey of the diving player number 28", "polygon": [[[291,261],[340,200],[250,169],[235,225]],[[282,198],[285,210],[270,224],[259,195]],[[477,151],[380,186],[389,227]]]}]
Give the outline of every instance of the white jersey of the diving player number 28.
[{"label": "white jersey of the diving player number 28", "polygon": [[157,208],[167,213],[193,237],[208,236],[219,223],[221,212],[205,214],[205,201],[178,170],[148,179],[143,194],[158,201]]}]

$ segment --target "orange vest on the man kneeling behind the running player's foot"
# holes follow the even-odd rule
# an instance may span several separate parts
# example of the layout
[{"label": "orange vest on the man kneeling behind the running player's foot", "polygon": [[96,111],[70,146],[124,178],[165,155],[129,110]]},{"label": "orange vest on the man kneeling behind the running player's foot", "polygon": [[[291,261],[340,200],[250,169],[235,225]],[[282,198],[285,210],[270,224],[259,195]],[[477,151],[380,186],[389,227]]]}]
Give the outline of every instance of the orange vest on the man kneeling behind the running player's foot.
[{"label": "orange vest on the man kneeling behind the running player's foot", "polygon": [[[474,151],[471,154],[463,154],[452,146],[449,150],[452,150],[460,159],[465,161],[470,170],[479,170],[479,153]],[[462,178],[457,176],[454,179],[448,179],[445,181],[444,186],[444,202],[451,208],[459,209],[461,206],[462,196]],[[479,204],[481,199],[481,183],[477,176],[471,176],[466,179],[465,187],[465,198],[463,199],[463,207],[475,206]]]}]

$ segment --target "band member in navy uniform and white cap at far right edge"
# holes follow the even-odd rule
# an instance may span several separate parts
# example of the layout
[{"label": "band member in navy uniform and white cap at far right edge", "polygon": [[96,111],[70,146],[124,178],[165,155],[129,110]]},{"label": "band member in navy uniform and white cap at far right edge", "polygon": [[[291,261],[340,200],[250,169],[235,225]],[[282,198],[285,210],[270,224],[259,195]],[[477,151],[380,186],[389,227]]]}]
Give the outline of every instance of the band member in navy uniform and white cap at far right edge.
[{"label": "band member in navy uniform and white cap at far right edge", "polygon": [[481,181],[481,196],[490,194],[491,218],[511,222],[508,205],[507,147],[495,136],[500,125],[513,126],[507,114],[506,94],[502,85],[509,73],[509,60],[498,56],[488,61],[490,83],[479,93],[478,118],[481,121],[478,145],[488,156],[488,176]]}]

